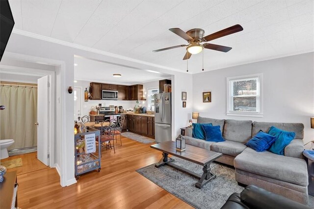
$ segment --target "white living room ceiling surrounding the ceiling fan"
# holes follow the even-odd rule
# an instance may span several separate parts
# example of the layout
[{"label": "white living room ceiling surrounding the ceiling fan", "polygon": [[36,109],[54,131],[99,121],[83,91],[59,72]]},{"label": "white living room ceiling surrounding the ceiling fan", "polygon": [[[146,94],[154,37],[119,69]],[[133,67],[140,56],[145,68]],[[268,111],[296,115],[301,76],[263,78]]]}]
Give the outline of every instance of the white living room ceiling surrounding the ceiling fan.
[{"label": "white living room ceiling surrounding the ceiling fan", "polygon": [[[205,50],[205,70],[314,51],[313,0],[9,0],[15,28],[105,52],[186,70],[186,44],[170,32],[203,28],[205,35],[235,24],[244,30],[210,43],[230,52]],[[202,53],[189,59],[201,72]]]}]

